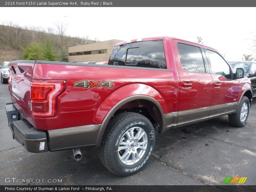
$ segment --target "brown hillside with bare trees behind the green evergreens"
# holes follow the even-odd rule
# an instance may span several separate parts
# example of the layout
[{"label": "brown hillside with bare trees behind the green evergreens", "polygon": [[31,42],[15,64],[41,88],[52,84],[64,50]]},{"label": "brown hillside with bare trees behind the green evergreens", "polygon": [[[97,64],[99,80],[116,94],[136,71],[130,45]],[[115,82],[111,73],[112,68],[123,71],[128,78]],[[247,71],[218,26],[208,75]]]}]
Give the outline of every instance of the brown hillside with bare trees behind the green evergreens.
[{"label": "brown hillside with bare trees behind the green evergreens", "polygon": [[[81,37],[65,36],[65,26],[53,28],[19,27],[17,24],[0,25],[0,63],[22,59],[22,50],[31,42],[44,43],[45,38],[53,41],[58,60],[68,58],[68,47],[95,42]],[[61,30],[59,30],[61,29]]]}]

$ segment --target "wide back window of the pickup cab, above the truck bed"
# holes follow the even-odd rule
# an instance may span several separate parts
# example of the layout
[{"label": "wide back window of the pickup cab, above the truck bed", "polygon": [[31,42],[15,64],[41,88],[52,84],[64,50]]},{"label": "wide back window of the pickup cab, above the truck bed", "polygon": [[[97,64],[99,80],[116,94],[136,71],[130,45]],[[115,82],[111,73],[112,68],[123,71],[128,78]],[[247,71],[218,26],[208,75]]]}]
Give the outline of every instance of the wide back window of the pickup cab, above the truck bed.
[{"label": "wide back window of the pickup cab, above the truck bed", "polygon": [[108,65],[166,69],[163,41],[142,41],[114,47]]}]

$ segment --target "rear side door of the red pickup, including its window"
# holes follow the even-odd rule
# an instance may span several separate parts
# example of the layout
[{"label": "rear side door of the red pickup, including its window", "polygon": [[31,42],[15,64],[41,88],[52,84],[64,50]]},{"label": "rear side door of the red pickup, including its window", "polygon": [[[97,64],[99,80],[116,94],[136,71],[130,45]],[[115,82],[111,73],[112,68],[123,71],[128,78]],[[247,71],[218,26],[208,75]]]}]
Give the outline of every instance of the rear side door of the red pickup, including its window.
[{"label": "rear side door of the red pickup, including its window", "polygon": [[212,100],[212,76],[203,47],[172,40],[180,76],[178,126],[208,119]]}]

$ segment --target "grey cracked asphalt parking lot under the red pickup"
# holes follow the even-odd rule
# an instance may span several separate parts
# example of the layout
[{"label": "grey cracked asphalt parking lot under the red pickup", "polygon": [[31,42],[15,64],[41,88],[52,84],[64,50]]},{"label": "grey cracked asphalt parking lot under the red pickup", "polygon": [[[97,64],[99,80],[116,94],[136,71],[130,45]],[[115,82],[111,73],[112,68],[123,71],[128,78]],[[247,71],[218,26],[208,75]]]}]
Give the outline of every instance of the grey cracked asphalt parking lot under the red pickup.
[{"label": "grey cracked asphalt parking lot under the red pickup", "polygon": [[0,83],[0,100],[0,185],[222,185],[225,177],[235,176],[247,177],[246,185],[256,185],[256,101],[242,128],[230,126],[223,116],[156,133],[154,153],[145,167],[118,177],[101,164],[97,148],[82,148],[81,161],[74,160],[72,150],[27,152],[12,139],[7,125],[5,103],[11,101],[7,84]]}]

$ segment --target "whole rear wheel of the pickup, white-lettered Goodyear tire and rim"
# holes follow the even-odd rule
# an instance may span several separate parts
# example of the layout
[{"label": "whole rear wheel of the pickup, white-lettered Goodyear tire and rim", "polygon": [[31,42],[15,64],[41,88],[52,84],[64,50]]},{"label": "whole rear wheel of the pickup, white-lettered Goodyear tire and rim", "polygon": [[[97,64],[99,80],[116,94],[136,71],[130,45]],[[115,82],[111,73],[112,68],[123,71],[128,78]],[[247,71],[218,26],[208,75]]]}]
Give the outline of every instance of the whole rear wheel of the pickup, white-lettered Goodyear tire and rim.
[{"label": "whole rear wheel of the pickup, white-lettered Goodyear tire and rim", "polygon": [[116,175],[131,175],[145,166],[154,145],[155,131],[148,118],[120,113],[107,125],[99,149],[100,161]]}]

